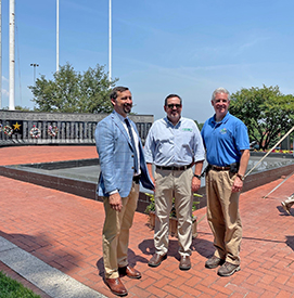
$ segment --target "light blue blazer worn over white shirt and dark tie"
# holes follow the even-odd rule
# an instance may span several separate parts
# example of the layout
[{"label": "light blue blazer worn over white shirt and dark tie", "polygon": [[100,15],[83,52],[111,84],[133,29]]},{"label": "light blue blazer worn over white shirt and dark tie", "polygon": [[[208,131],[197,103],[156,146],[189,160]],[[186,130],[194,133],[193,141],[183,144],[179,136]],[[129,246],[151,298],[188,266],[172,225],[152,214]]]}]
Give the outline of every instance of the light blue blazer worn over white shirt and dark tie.
[{"label": "light blue blazer worn over white shirt and dark tie", "polygon": [[[130,119],[129,121],[138,134],[136,125]],[[94,138],[101,166],[98,195],[108,196],[110,192],[118,190],[122,197],[128,196],[132,185],[135,148],[115,112],[98,122]],[[153,190],[154,185],[149,176],[140,138],[139,142],[140,181],[144,187]]]}]

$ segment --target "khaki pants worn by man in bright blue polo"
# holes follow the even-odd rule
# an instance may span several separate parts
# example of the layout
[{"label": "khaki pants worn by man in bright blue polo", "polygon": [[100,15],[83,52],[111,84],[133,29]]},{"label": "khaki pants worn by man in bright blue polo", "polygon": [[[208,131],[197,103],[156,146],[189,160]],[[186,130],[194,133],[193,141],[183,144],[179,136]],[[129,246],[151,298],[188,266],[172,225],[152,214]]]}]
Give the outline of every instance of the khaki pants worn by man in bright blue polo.
[{"label": "khaki pants worn by man in bright blue polo", "polygon": [[239,213],[240,193],[232,193],[235,174],[209,170],[206,174],[207,220],[214,234],[215,256],[240,264],[242,224]]}]

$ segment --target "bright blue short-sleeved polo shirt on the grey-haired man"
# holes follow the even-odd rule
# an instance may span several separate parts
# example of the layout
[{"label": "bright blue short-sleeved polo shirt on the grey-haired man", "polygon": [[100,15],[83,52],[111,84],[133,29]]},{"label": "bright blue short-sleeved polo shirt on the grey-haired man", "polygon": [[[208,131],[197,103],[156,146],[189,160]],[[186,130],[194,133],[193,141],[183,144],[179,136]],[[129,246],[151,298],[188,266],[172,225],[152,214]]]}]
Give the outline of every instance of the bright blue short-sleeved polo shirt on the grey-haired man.
[{"label": "bright blue short-sleeved polo shirt on the grey-haired man", "polygon": [[201,135],[210,165],[225,167],[239,163],[241,150],[250,148],[246,126],[229,112],[220,122],[216,122],[215,115],[206,120]]}]

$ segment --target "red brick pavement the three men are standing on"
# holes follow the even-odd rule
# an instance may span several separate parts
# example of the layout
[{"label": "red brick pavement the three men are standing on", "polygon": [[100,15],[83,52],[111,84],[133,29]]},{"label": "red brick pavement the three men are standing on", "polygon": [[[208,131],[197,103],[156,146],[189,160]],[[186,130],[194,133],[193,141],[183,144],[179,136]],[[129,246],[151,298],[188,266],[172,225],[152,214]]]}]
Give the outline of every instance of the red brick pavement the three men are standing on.
[{"label": "red brick pavement the three men are standing on", "polygon": [[[0,148],[0,164],[24,164],[97,157],[94,146],[27,146]],[[0,177],[0,236],[107,297],[103,283],[100,202]],[[204,268],[214,251],[206,218],[193,241],[192,269],[178,269],[177,242],[170,238],[168,258],[148,267],[154,251],[153,231],[145,215],[136,213],[129,260],[143,277],[123,277],[128,297],[294,297],[294,226],[280,202],[294,192],[294,177],[263,198],[282,179],[243,193],[244,226],[241,271],[219,277]],[[197,210],[199,218],[206,211]],[[294,215],[294,210],[293,210]],[[2,267],[0,267],[1,270]]]}]

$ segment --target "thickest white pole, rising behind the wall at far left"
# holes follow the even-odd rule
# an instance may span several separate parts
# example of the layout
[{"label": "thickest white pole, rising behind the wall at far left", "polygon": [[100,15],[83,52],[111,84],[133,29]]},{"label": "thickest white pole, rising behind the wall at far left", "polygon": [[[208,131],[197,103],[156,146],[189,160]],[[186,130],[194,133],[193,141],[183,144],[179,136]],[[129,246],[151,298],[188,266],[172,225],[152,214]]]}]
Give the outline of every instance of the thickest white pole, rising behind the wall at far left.
[{"label": "thickest white pole, rising behind the wall at far left", "polygon": [[15,0],[10,0],[9,12],[9,109],[14,105],[14,78],[15,78]]}]

